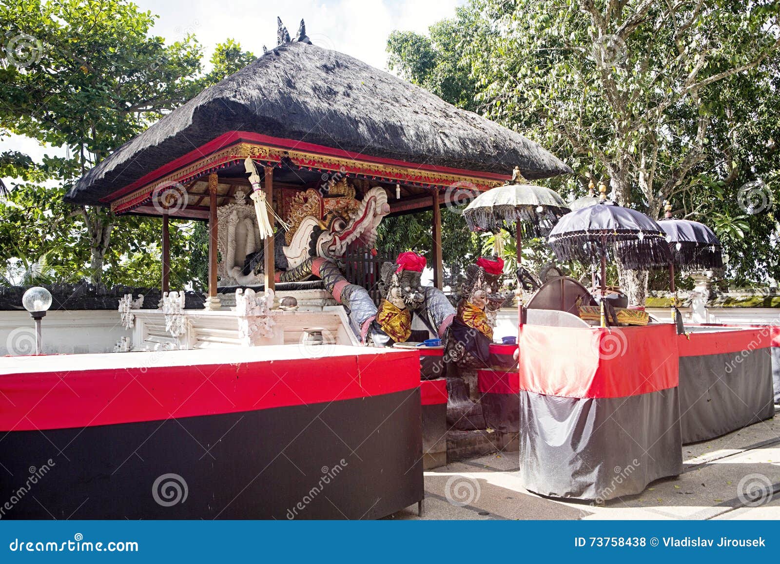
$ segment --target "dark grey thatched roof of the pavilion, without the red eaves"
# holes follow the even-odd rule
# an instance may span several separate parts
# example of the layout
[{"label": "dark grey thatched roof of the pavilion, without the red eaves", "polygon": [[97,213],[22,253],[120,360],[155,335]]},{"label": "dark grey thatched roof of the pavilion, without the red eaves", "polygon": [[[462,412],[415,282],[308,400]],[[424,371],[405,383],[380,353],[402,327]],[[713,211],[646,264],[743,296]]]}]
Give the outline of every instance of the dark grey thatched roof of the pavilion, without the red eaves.
[{"label": "dark grey thatched roof of the pavilion, without the red eaves", "polygon": [[336,51],[285,43],[165,115],[66,196],[97,201],[230,131],[528,179],[571,169],[510,129]]}]

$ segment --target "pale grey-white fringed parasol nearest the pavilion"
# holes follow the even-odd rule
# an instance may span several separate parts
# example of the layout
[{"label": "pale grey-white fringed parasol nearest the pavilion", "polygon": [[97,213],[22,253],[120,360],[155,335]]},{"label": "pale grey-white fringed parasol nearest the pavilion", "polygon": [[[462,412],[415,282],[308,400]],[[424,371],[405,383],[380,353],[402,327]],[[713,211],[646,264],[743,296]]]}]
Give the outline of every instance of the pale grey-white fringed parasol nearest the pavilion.
[{"label": "pale grey-white fringed parasol nearest the pavilion", "polygon": [[502,227],[517,235],[517,263],[521,262],[523,232],[527,236],[546,236],[558,219],[569,211],[566,201],[555,190],[527,184],[518,167],[512,180],[479,196],[463,211],[472,231],[494,231]]}]

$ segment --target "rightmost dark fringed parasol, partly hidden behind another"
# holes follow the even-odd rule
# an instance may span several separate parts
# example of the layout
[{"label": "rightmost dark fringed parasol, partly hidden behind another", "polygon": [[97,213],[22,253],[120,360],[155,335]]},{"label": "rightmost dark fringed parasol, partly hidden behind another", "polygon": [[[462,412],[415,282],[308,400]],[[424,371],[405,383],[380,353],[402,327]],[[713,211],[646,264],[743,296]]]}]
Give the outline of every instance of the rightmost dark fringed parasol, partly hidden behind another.
[{"label": "rightmost dark fringed parasol, partly hidden behind another", "polygon": [[669,289],[672,290],[674,303],[677,306],[675,289],[675,264],[685,268],[722,268],[721,242],[712,229],[700,222],[689,219],[672,218],[672,204],[664,202],[664,219],[658,222],[666,233],[666,241],[672,252],[672,262],[669,263]]}]

